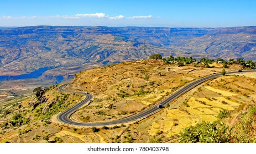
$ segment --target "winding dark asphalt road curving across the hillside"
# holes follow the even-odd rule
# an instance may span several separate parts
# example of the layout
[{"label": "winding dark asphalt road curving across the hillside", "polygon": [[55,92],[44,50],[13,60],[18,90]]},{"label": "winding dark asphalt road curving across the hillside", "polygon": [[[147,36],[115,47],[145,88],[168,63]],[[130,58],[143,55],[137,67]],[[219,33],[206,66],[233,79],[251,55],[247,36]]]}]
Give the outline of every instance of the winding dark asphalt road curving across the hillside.
[{"label": "winding dark asphalt road curving across the hillside", "polygon": [[[256,70],[244,70],[243,72],[256,72]],[[226,74],[234,74],[234,73],[238,73],[236,72],[227,72]],[[213,75],[209,75],[206,76],[205,78],[201,78],[198,79],[196,81],[193,81],[192,83],[189,83],[185,86],[183,86],[181,89],[177,90],[176,92],[174,92],[173,95],[169,96],[168,98],[166,98],[164,101],[161,101],[160,103],[158,103],[158,105],[162,105],[165,106],[168,103],[170,103],[171,101],[174,101],[177,97],[185,94],[187,91],[190,91],[191,89],[193,89],[195,86],[209,80],[212,78],[216,78],[218,76],[221,76],[222,74],[213,74]],[[123,123],[127,123],[127,122],[132,122],[134,120],[138,120],[138,119],[142,119],[145,117],[148,117],[158,111],[160,111],[161,108],[158,108],[158,105],[155,105],[149,109],[146,109],[145,111],[139,112],[137,114],[134,114],[133,116],[130,117],[126,117],[123,119],[119,119],[116,121],[111,121],[111,122],[99,122],[99,123],[80,123],[80,122],[75,122],[72,121],[70,119],[71,115],[80,107],[82,107],[83,105],[85,105],[85,103],[89,102],[92,99],[92,95],[90,94],[84,94],[83,92],[76,92],[76,91],[67,91],[64,90],[63,87],[66,86],[67,84],[61,85],[58,87],[58,89],[60,91],[65,91],[65,92],[72,92],[72,93],[76,93],[76,94],[82,94],[82,95],[86,95],[86,99],[77,103],[75,106],[72,106],[71,108],[67,109],[66,111],[62,112],[59,114],[59,116],[57,117],[60,122],[62,123],[66,123],[66,124],[71,124],[71,125],[79,125],[79,126],[103,126],[103,125],[114,125],[114,124],[123,124]]]}]

